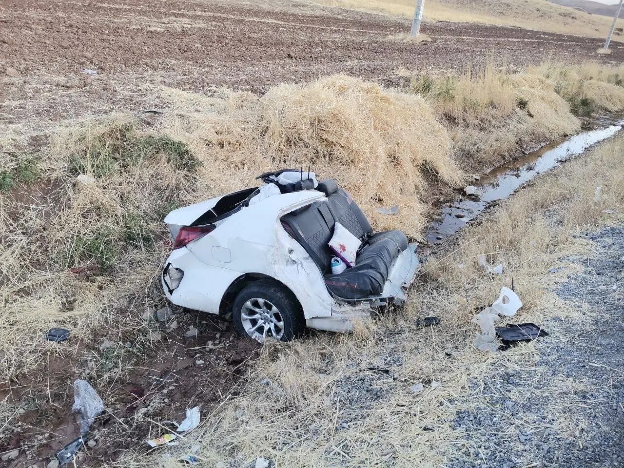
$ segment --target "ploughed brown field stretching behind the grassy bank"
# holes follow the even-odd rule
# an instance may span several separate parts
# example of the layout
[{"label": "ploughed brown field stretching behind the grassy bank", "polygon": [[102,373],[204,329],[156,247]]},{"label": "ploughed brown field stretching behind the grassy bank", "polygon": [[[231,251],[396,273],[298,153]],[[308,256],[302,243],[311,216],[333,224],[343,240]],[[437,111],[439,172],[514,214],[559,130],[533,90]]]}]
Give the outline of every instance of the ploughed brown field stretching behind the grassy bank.
[{"label": "ploughed brown field stretching behind the grassy bank", "polygon": [[406,31],[407,20],[301,1],[0,0],[0,123],[153,105],[155,84],[261,93],[333,73],[394,85],[397,69],[490,57],[517,67],[548,54],[624,58],[619,44],[597,56],[598,39],[466,23],[424,24],[433,42],[423,44],[387,38]]}]

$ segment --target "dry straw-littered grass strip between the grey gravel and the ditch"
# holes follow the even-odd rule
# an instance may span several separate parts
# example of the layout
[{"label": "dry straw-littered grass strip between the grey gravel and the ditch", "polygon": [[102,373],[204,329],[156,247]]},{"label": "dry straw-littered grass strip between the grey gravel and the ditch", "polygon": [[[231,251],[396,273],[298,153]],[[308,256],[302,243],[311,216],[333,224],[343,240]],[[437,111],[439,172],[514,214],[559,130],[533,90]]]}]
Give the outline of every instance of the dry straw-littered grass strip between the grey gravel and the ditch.
[{"label": "dry straw-littered grass strip between the grey gravel and the ditch", "polygon": [[[553,311],[581,319],[573,305],[563,305],[552,293],[565,278],[548,268],[588,248],[573,233],[624,220],[622,149],[622,137],[603,144],[540,177],[483,223],[467,228],[455,247],[429,260],[403,313],[351,336],[318,334],[266,344],[240,393],[215,407],[187,435],[190,441],[169,449],[167,456],[128,454],[115,466],[167,467],[170,456],[183,455],[195,444],[205,467],[245,466],[258,456],[276,466],[441,466],[462,436],[452,419],[475,404],[471,391],[493,369],[537,366],[532,345],[504,354],[475,351],[474,311],[490,304],[500,286],[514,278],[524,302],[514,320],[542,323]],[[593,202],[598,184],[604,195]],[[617,218],[604,215],[605,208],[616,210]],[[482,254],[503,263],[504,275],[489,276],[479,268],[476,258]],[[441,317],[442,325],[418,328],[414,319],[423,315]],[[441,386],[427,384],[433,380]],[[414,394],[409,387],[417,382],[426,385]],[[569,396],[578,385],[557,382],[547,390]],[[558,431],[572,436],[568,404],[569,398],[559,399],[548,411]]]}]

